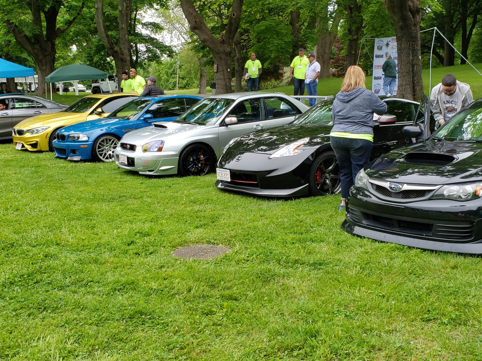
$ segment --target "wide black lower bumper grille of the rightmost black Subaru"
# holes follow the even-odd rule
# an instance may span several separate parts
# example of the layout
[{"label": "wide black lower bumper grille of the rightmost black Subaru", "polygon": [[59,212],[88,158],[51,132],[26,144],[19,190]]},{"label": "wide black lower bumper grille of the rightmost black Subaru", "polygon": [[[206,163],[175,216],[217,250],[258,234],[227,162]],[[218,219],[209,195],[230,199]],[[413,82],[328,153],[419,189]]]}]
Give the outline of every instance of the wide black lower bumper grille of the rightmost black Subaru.
[{"label": "wide black lower bumper grille of the rightmost black Subaru", "polygon": [[348,206],[348,216],[358,224],[364,224],[390,231],[414,236],[433,237],[436,239],[468,241],[474,235],[474,222],[447,222],[426,219],[401,219],[392,215],[377,215],[362,209]]}]

